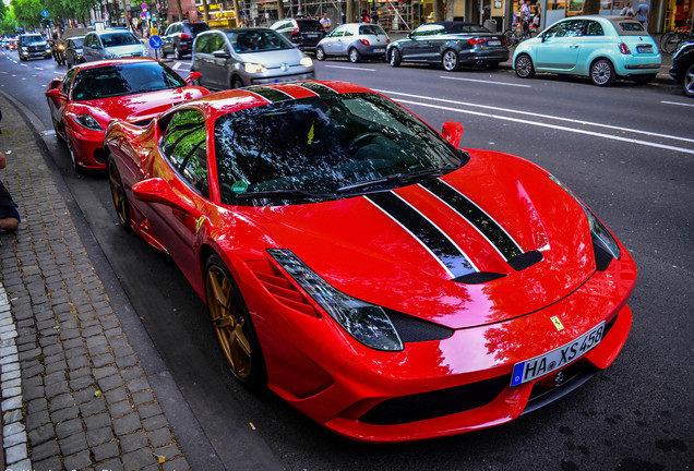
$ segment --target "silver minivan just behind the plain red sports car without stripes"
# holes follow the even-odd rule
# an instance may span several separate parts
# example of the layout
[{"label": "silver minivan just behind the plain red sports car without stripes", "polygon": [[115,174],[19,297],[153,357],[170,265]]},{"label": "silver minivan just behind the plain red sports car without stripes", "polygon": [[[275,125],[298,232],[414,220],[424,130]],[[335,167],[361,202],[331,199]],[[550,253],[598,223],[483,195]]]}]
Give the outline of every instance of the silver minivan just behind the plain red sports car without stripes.
[{"label": "silver minivan just behind the plain red sports car without stripes", "polygon": [[127,57],[148,57],[140,38],[125,28],[106,28],[87,33],[82,45],[85,62]]}]

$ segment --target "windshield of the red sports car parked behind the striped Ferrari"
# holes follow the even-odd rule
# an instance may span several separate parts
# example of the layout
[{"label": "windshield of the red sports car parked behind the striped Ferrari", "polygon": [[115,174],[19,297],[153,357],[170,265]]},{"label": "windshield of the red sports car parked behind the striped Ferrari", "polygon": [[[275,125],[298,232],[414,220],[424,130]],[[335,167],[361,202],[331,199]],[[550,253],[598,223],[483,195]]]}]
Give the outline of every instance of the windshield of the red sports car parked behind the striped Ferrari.
[{"label": "windshield of the red sports car parked behind the striped Ferrari", "polygon": [[72,85],[77,101],[134,95],[186,86],[186,81],[161,62],[137,62],[81,70]]}]

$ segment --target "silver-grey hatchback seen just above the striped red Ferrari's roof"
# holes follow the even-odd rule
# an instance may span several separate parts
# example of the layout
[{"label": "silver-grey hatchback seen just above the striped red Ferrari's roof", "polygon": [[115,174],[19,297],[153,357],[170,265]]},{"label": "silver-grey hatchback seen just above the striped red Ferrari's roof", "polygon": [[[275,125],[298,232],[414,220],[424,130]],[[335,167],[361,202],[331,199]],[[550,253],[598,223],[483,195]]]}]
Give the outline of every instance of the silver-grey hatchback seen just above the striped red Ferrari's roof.
[{"label": "silver-grey hatchback seen just above the striped red Ferrari's roof", "polygon": [[313,61],[270,28],[211,29],[193,44],[191,70],[214,89],[311,80]]}]

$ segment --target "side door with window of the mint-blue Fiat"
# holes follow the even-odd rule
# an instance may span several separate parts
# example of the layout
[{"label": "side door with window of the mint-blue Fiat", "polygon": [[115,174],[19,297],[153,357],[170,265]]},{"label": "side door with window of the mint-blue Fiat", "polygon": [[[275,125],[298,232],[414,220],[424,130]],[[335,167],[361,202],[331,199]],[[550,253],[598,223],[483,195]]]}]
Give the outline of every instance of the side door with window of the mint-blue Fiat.
[{"label": "side door with window of the mint-blue Fiat", "polygon": [[567,20],[542,33],[536,45],[536,70],[572,72],[578,60],[583,26],[583,20]]}]

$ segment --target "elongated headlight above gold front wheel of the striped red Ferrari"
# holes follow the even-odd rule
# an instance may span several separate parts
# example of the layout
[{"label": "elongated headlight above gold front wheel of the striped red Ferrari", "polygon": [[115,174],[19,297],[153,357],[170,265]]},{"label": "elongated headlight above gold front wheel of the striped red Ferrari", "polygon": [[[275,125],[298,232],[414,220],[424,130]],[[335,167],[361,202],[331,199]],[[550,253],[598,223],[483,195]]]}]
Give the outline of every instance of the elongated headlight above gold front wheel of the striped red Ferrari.
[{"label": "elongated headlight above gold front wheel of the striped red Ferrari", "polygon": [[375,350],[403,350],[403,341],[382,307],[333,288],[289,250],[267,252],[355,339]]}]

